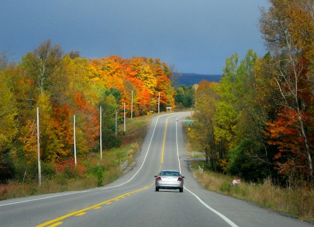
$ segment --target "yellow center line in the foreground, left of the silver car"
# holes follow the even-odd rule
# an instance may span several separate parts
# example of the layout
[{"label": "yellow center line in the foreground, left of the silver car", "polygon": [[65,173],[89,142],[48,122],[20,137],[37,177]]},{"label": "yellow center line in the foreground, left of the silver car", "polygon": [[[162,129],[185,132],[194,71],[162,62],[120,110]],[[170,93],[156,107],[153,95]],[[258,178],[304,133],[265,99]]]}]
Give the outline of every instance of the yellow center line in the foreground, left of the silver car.
[{"label": "yellow center line in the foreground, left of the silver car", "polygon": [[[151,186],[146,186],[146,187],[144,187],[144,188],[135,190],[135,191],[133,191],[133,192],[128,192],[128,193],[126,193],[126,194],[117,196],[117,197],[112,198],[112,199],[109,199],[109,200],[107,200],[107,201],[103,201],[103,202],[100,203],[100,204],[96,204],[96,205],[93,205],[93,206],[91,206],[91,207],[88,207],[88,208],[85,208],[85,209],[82,209],[82,210],[79,210],[79,211],[76,211],[76,212],[73,212],[73,213],[69,213],[69,214],[66,214],[66,215],[64,215],[64,216],[58,217],[58,218],[56,218],[56,219],[47,221],[47,222],[45,222],[45,223],[42,223],[42,224],[40,224],[40,225],[37,225],[36,227],[44,227],[44,226],[48,226],[48,225],[50,225],[50,226],[56,226],[56,224],[57,224],[57,225],[60,224],[60,221],[63,220],[63,219],[65,219],[65,218],[68,218],[68,217],[71,217],[71,216],[75,216],[75,215],[80,215],[80,214],[82,214],[82,213],[85,213],[85,211],[98,208],[98,207],[100,207],[100,206],[103,205],[103,204],[108,204],[108,203],[110,203],[111,201],[118,200],[119,198],[123,198],[123,197],[125,197],[126,195],[129,195],[130,193],[139,192],[139,191],[145,190],[145,189],[147,189],[147,188],[149,188],[149,187],[151,187]],[[58,222],[58,223],[55,223],[55,222]],[[62,223],[62,222],[61,222],[61,223]]]}]

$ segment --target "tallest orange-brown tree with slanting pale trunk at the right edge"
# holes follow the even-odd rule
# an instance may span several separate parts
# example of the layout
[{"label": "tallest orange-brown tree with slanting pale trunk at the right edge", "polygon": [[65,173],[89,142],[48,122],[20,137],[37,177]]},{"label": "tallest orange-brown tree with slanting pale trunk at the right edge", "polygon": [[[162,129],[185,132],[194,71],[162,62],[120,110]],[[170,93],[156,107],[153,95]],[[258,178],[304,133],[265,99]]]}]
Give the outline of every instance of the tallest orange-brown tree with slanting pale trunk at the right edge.
[{"label": "tallest orange-brown tree with slanting pale trunk at the right edge", "polygon": [[269,123],[268,135],[270,143],[278,145],[281,154],[277,158],[285,156],[278,162],[279,172],[283,168],[287,171],[296,166],[300,171],[305,168],[301,171],[305,172],[303,176],[308,176],[314,184],[313,1],[270,0],[270,4],[268,11],[262,9],[260,31],[272,54],[274,85],[281,97],[277,100],[277,117]]}]

